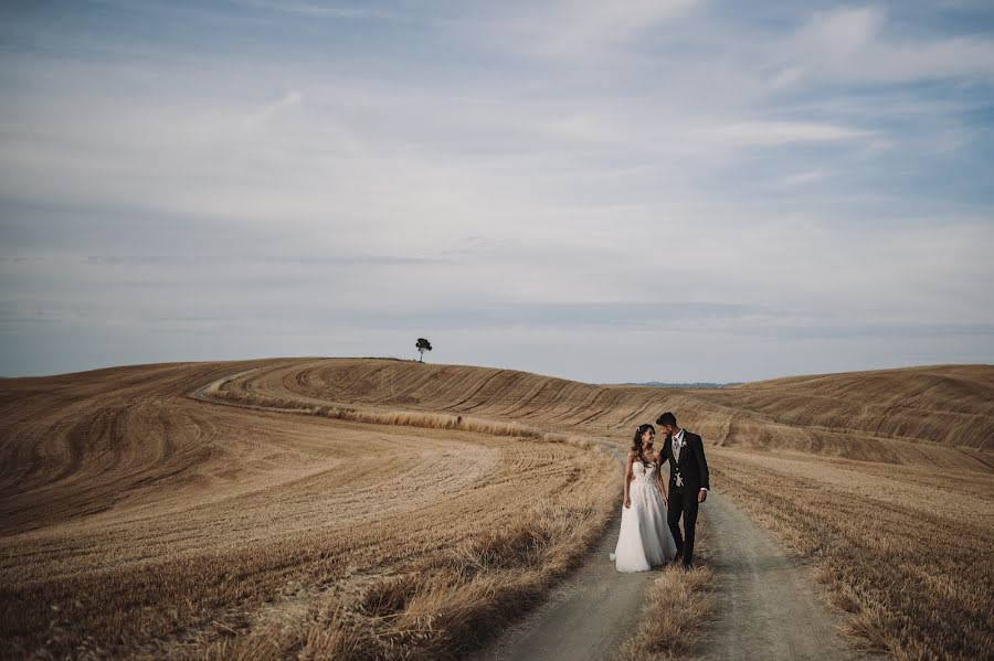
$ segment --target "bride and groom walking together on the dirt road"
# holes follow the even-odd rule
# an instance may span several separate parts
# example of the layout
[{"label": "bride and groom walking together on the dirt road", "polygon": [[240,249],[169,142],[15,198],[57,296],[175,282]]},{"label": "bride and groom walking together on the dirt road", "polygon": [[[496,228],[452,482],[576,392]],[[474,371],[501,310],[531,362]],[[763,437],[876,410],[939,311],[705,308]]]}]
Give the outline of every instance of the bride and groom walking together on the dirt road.
[{"label": "bride and groom walking together on the dirt road", "polygon": [[[611,554],[618,572],[645,572],[678,556],[687,569],[694,559],[697,507],[707,500],[710,488],[704,443],[697,434],[677,426],[673,413],[664,413],[656,424],[660,433],[666,433],[663,449],[653,448],[656,429],[639,425],[625,461],[621,532]],[[668,497],[663,486],[666,461],[669,461]]]}]

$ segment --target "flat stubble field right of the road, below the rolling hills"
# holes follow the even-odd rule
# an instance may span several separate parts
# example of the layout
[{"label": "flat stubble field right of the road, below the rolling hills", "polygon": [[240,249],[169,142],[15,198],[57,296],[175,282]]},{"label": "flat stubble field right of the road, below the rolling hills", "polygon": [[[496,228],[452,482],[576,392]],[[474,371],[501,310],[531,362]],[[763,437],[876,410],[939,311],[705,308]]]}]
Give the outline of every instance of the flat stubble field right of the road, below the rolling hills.
[{"label": "flat stubble field right of the road, below the rolling hills", "polygon": [[994,658],[994,477],[715,450],[712,481],[810,558],[857,643]]}]

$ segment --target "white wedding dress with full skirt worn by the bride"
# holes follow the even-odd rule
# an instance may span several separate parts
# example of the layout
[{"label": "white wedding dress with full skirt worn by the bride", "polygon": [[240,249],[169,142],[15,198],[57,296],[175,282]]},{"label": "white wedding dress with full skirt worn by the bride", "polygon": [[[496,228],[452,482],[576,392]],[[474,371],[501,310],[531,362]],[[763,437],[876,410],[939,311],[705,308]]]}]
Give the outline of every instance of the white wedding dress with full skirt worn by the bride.
[{"label": "white wedding dress with full skirt worn by the bride", "polygon": [[646,572],[676,557],[676,542],[666,525],[663,495],[656,486],[656,465],[634,461],[628,484],[632,507],[622,503],[622,524],[611,559],[618,572]]}]

